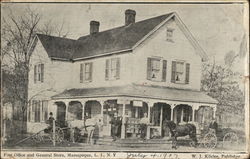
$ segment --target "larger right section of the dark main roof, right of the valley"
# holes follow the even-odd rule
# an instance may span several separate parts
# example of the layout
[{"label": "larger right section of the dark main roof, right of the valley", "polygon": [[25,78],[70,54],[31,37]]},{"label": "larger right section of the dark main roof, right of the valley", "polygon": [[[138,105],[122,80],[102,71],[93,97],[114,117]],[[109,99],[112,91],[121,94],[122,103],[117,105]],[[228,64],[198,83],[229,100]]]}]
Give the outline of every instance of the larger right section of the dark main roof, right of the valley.
[{"label": "larger right section of the dark main roof, right of the valley", "polygon": [[[172,13],[150,18],[147,20],[132,23],[94,35],[80,37],[83,42],[84,55],[94,56],[103,53],[110,53],[120,50],[132,49],[132,47],[152,31],[157,25],[168,18]],[[82,52],[74,55],[74,58],[81,58]]]}]

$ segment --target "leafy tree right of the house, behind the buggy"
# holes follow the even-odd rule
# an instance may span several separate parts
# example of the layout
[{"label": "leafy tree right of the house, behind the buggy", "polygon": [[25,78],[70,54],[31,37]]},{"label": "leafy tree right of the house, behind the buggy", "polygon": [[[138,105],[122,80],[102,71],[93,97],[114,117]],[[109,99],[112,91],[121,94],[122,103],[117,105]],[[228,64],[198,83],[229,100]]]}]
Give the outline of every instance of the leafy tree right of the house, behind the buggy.
[{"label": "leafy tree right of the house, behind the buggy", "polygon": [[219,102],[217,114],[244,112],[244,93],[239,86],[240,73],[215,63],[204,63],[202,73],[201,89]]}]

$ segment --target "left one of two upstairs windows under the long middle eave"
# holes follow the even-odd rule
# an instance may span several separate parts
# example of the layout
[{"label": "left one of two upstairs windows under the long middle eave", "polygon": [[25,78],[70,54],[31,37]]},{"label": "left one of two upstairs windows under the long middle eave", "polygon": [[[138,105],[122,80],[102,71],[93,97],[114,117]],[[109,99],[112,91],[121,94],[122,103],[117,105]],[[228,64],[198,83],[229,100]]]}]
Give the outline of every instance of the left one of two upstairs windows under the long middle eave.
[{"label": "left one of two upstairs windows under the long middle eave", "polygon": [[92,67],[92,62],[80,64],[80,83],[92,81]]}]

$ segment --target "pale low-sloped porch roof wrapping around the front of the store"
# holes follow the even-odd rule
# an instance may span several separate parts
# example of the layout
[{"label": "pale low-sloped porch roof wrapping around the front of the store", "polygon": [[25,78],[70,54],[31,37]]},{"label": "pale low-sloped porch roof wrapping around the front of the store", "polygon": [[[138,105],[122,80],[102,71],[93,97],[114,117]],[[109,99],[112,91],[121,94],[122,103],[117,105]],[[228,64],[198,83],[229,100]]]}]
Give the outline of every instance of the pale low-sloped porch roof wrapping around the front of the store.
[{"label": "pale low-sloped porch roof wrapping around the front of the store", "polygon": [[69,89],[52,97],[52,99],[79,99],[93,97],[142,97],[182,102],[217,104],[218,102],[204,92],[176,89],[161,86],[126,85],[98,88]]}]

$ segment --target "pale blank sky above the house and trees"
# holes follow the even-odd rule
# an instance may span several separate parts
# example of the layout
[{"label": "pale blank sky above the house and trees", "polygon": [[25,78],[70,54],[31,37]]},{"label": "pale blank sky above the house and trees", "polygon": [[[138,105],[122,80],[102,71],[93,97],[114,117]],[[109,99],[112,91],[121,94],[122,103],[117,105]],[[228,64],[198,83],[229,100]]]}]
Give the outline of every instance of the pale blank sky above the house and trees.
[{"label": "pale blank sky above the house and trees", "polygon": [[[136,11],[136,21],[176,12],[195,39],[205,50],[210,60],[224,64],[224,56],[230,51],[239,52],[245,33],[242,4],[81,4],[81,3],[31,3],[2,5],[2,16],[10,7],[16,15],[29,6],[39,12],[43,20],[51,19],[55,24],[64,22],[69,30],[68,38],[77,39],[89,34],[89,22],[100,22],[100,31],[124,25],[126,9]],[[242,72],[244,60],[234,65]]]}]

